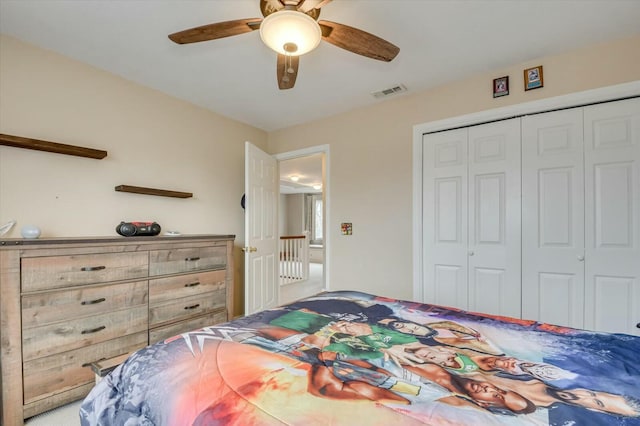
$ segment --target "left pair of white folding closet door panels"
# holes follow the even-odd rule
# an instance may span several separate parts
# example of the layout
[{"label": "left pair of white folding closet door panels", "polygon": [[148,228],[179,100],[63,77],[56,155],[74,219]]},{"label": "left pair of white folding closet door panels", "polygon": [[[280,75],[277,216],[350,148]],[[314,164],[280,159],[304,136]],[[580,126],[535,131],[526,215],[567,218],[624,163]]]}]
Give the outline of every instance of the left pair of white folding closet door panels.
[{"label": "left pair of white folding closet door panels", "polygon": [[423,144],[425,301],[520,317],[520,120]]}]

